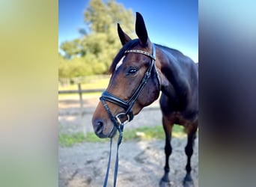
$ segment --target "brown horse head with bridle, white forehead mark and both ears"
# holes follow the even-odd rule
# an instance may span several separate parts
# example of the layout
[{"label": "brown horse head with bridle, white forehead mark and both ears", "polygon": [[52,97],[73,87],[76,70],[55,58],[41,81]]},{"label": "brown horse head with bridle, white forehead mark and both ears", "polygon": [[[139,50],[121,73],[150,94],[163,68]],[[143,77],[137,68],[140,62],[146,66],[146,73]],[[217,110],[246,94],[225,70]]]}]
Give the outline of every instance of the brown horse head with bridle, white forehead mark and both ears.
[{"label": "brown horse head with bridle, white forehead mark and both ears", "polygon": [[135,32],[138,39],[132,40],[118,24],[123,47],[112,62],[109,86],[92,118],[94,132],[100,138],[112,138],[121,123],[132,120],[133,115],[159,96],[160,64],[140,13],[136,13]]}]

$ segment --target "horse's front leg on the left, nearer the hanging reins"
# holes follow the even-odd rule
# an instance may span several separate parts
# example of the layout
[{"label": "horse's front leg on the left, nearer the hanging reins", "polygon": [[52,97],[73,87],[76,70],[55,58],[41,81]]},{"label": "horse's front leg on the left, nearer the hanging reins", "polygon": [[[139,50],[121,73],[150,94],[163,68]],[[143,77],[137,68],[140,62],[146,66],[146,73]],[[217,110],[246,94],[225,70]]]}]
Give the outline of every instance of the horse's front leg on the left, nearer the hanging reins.
[{"label": "horse's front leg on the left, nearer the hanging reins", "polygon": [[171,155],[171,150],[172,150],[172,148],[171,148],[171,130],[172,130],[172,126],[174,124],[171,123],[170,121],[168,121],[167,117],[162,117],[162,125],[165,130],[165,168],[164,168],[165,174],[160,181],[160,186],[164,187],[164,186],[170,186],[170,180],[168,178],[168,174],[170,171],[169,157]]}]

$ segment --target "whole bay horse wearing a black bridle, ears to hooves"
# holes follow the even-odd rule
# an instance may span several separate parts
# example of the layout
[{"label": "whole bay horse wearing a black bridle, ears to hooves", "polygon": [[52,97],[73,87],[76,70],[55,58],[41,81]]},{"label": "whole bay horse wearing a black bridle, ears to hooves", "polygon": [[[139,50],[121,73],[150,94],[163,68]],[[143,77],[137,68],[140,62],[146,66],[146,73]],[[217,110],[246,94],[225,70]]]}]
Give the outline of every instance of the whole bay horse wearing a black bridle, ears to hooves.
[{"label": "whole bay horse wearing a black bridle, ears to hooves", "polygon": [[123,46],[109,68],[109,86],[94,111],[94,132],[100,138],[112,138],[121,124],[132,120],[162,91],[159,102],[165,130],[165,172],[160,186],[170,186],[168,160],[174,123],[184,126],[188,135],[183,185],[193,186],[190,160],[198,129],[198,65],[176,49],[151,43],[140,13],[136,13],[135,32],[138,38],[132,40],[118,24]]}]

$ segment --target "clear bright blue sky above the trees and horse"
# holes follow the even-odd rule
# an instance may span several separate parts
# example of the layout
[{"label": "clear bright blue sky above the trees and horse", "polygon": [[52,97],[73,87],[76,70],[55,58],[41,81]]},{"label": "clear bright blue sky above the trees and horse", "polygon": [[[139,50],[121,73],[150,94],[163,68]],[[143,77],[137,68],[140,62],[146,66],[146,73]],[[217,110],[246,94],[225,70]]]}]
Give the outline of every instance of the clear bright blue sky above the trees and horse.
[{"label": "clear bright blue sky above the trees and horse", "polygon": [[[177,49],[198,62],[198,0],[116,1],[134,15],[141,13],[151,42]],[[58,46],[81,36],[88,4],[89,0],[58,1]]]}]

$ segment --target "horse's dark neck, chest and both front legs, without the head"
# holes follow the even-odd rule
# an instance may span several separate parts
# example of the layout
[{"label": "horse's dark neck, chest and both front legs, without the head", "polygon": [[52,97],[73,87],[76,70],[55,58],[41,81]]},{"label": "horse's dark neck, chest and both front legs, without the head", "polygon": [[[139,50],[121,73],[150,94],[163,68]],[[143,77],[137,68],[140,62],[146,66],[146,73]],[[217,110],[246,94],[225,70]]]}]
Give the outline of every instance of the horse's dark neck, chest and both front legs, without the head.
[{"label": "horse's dark neck, chest and both front legs, without the head", "polygon": [[162,125],[165,129],[165,174],[161,186],[168,184],[170,170],[168,159],[171,155],[171,129],[175,124],[184,126],[188,134],[185,153],[188,158],[184,186],[192,185],[190,160],[198,129],[198,66],[177,50],[159,46],[162,76],[160,107]]}]

